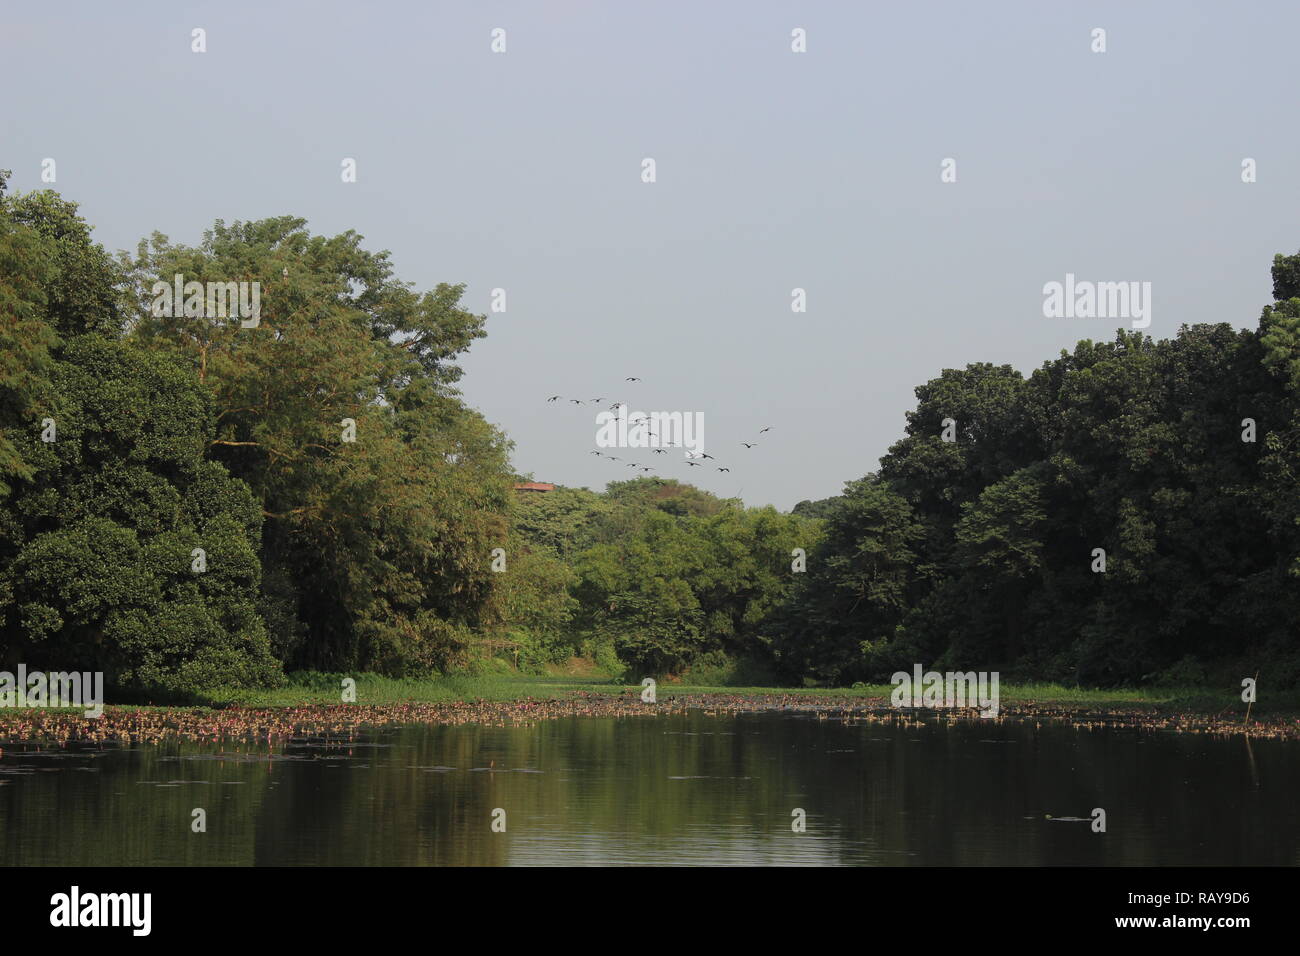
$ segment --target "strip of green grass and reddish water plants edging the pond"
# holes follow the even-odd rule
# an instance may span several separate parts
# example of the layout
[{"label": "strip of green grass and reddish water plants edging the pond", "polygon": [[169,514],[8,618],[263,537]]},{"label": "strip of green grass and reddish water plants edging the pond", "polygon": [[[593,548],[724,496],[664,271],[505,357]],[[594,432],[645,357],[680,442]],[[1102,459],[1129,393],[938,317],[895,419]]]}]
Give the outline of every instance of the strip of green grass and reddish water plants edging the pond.
[{"label": "strip of green grass and reddish water plants edging the pond", "polygon": [[129,744],[166,739],[254,740],[283,744],[295,739],[346,740],[385,726],[528,726],[575,717],[653,717],[684,710],[714,715],[790,713],[841,723],[1004,721],[1056,722],[1089,731],[1128,727],[1141,731],[1240,735],[1300,740],[1295,697],[1256,705],[1247,721],[1239,697],[1205,689],[1092,691],[1058,685],[1008,685],[997,717],[975,710],[896,709],[889,685],[855,688],[716,688],[660,684],[656,701],[641,700],[640,687],[601,683],[601,678],[443,678],[390,680],[363,676],[356,702],[339,702],[330,675],[272,691],[216,691],[203,705],[108,706],[86,718],[70,709],[0,710],[0,745],[25,743]]}]

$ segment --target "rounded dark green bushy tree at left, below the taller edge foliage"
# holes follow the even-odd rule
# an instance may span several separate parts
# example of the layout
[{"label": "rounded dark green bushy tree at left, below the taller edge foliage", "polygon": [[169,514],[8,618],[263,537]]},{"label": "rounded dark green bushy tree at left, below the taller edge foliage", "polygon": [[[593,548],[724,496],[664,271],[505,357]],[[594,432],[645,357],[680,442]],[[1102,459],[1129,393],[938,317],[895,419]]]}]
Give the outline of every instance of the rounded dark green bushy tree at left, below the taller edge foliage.
[{"label": "rounded dark green bushy tree at left, below the taller edge foliage", "polygon": [[254,600],[261,516],[203,458],[207,395],[165,356],[94,334],[52,376],[57,440],[25,437],[34,475],[0,535],[6,659],[136,691],[276,683]]}]

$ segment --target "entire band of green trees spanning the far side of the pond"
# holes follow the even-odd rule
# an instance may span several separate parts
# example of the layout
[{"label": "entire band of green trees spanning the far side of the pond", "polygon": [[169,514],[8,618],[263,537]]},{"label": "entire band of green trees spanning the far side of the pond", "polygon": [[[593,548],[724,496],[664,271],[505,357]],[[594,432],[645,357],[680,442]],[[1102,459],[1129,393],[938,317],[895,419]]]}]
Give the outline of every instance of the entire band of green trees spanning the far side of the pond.
[{"label": "entire band of green trees spanning the far side of the pond", "polygon": [[[217,221],[114,259],[4,178],[3,665],[134,695],[576,654],[754,683],[1300,683],[1300,255],[1256,332],[945,371],[879,471],[781,514],[662,479],[512,490],[456,389],[484,317],[355,233]],[[188,282],[256,282],[260,313]]]}]

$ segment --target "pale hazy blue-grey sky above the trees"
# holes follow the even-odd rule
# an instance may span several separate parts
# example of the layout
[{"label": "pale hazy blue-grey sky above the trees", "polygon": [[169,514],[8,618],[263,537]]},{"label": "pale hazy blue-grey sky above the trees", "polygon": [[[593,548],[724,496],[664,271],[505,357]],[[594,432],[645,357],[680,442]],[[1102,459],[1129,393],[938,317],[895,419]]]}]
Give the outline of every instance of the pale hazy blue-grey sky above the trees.
[{"label": "pale hazy blue-grey sky above the trees", "polygon": [[594,407],[545,402],[627,398],[703,412],[732,471],[633,457],[788,509],[874,470],[942,368],[1113,337],[1044,317],[1067,272],[1152,282],[1158,337],[1253,326],[1300,248],[1296,35],[1290,0],[8,3],[0,166],[56,159],[110,250],[292,213],[474,311],[504,287],[464,393],[520,471],[627,477]]}]

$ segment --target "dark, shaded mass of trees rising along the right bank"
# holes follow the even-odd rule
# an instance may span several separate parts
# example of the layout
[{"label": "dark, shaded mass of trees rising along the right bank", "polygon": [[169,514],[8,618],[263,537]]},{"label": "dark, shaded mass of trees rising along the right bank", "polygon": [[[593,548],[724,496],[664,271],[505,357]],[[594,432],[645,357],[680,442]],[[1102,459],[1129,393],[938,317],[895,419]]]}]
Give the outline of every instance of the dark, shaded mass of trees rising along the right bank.
[{"label": "dark, shaded mass of trees rising along the right bank", "polygon": [[[1278,258],[1275,295],[1297,263]],[[1300,682],[1296,306],[1257,332],[1121,330],[1028,378],[972,364],[918,388],[906,437],[826,514],[789,672],[1112,684],[1268,662]]]}]

